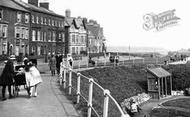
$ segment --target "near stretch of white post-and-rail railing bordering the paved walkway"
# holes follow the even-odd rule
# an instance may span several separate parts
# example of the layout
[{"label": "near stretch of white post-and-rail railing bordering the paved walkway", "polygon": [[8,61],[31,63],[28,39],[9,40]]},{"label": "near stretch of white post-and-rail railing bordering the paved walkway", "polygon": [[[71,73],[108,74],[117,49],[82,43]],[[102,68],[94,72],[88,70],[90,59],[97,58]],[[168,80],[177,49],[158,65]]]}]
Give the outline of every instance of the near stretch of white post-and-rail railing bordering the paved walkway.
[{"label": "near stretch of white post-and-rail railing bordering the paved walkway", "polygon": [[[68,73],[68,75],[67,75]],[[123,110],[121,109],[120,105],[117,103],[117,101],[110,95],[110,91],[108,89],[104,89],[102,86],[100,86],[97,82],[94,81],[93,78],[89,78],[86,77],[84,75],[82,75],[79,72],[75,72],[73,69],[71,68],[64,68],[63,71],[63,78],[60,78],[60,85],[63,85],[63,88],[66,88],[68,85],[68,93],[69,95],[72,94],[72,74],[76,74],[77,75],[77,86],[76,86],[76,103],[80,102],[80,98],[82,97],[86,102],[87,102],[87,107],[88,107],[88,112],[87,112],[87,117],[91,117],[92,114],[92,110],[95,112],[95,114],[100,117],[100,115],[98,114],[98,112],[96,112],[96,110],[93,108],[93,104],[92,104],[92,100],[93,100],[93,87],[97,86],[98,88],[100,88],[103,92],[103,96],[104,96],[104,105],[103,105],[103,117],[108,117],[108,106],[109,106],[109,99],[112,100],[115,104],[115,106],[118,108],[119,113],[121,114],[121,117],[129,117],[128,114],[125,114],[123,112]],[[81,93],[81,79],[85,79],[88,80],[88,99],[82,95]],[[68,81],[67,81],[68,79]]]}]

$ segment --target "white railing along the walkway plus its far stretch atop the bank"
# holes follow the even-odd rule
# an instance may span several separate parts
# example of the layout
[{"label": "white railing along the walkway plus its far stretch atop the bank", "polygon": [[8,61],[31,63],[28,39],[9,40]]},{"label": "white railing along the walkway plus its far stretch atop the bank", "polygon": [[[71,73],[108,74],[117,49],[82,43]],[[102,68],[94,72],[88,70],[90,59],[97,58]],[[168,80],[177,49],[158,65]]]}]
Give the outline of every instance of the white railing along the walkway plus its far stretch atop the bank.
[{"label": "white railing along the walkway plus its far stretch atop the bank", "polygon": [[[125,61],[119,61],[118,63],[114,62],[114,63],[110,63],[108,61],[95,61],[95,65],[90,65],[88,62],[84,62],[81,63],[80,61],[78,62],[78,64],[75,63],[74,68],[78,69],[80,71],[81,68],[89,68],[89,67],[98,67],[98,66],[118,66],[118,65],[135,65],[135,64],[158,64],[160,63],[158,60],[153,60],[153,61],[146,61],[144,59],[139,59],[139,60],[125,60]],[[68,75],[67,75],[68,74]],[[73,79],[72,75],[75,74],[77,75],[77,80]],[[81,79],[85,79],[87,80],[88,84],[84,84],[84,85],[88,85],[88,97],[86,97],[85,95],[83,95],[81,93]],[[72,84],[72,80],[76,81],[76,103],[80,102],[80,98],[82,97],[86,102],[87,102],[87,107],[88,107],[88,111],[87,111],[87,117],[91,117],[92,115],[92,110],[94,111],[94,113],[100,117],[100,115],[98,114],[98,112],[94,109],[93,104],[92,104],[92,100],[93,100],[93,87],[98,87],[103,93],[103,117],[108,117],[108,107],[109,107],[109,102],[110,100],[114,103],[115,107],[119,110],[119,113],[121,115],[121,117],[129,117],[128,114],[125,114],[123,112],[123,110],[121,109],[120,105],[117,103],[117,101],[112,97],[112,95],[110,94],[110,91],[108,89],[104,89],[102,86],[100,86],[97,82],[94,81],[93,78],[89,78],[84,76],[83,74],[81,74],[80,72],[76,72],[74,69],[71,68],[64,68],[63,71],[63,76],[60,78],[60,85],[63,85],[63,88],[67,88],[68,87],[68,93],[69,95],[72,94],[72,88],[73,84]],[[84,83],[84,82],[83,82]],[[67,86],[68,85],[68,86]]]}]

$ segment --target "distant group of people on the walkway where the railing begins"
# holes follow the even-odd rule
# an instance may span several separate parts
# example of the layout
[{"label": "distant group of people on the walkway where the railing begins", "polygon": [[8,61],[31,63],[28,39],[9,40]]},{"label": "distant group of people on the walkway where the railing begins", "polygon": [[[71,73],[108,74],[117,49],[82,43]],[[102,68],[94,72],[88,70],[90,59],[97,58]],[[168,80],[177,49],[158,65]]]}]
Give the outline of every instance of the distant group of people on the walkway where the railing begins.
[{"label": "distant group of people on the walkway where the railing begins", "polygon": [[73,67],[73,58],[71,54],[67,54],[66,58],[60,53],[58,53],[56,56],[51,55],[51,58],[49,60],[49,67],[50,67],[52,76],[55,76],[56,71],[57,71],[57,75],[60,75],[62,71],[61,69],[63,67],[68,67],[68,68]]}]

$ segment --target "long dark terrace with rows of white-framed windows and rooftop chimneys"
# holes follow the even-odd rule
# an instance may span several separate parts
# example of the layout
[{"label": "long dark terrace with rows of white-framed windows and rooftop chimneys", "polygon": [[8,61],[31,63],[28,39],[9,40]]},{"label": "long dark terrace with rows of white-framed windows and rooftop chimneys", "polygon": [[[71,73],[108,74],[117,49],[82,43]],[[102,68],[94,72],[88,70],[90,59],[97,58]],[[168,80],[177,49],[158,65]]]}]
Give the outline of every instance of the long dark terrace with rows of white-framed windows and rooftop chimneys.
[{"label": "long dark terrace with rows of white-framed windows and rooftop chimneys", "polygon": [[65,53],[64,16],[49,10],[49,3],[38,0],[15,1],[30,11],[30,43],[29,54],[37,58],[56,52]]}]

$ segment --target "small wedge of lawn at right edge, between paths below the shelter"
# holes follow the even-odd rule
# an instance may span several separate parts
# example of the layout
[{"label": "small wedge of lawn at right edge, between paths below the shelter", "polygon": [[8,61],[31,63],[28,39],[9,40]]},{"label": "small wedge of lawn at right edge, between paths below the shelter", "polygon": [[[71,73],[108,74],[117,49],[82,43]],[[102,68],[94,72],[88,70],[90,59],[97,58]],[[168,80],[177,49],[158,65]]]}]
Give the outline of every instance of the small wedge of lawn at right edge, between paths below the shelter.
[{"label": "small wedge of lawn at right edge, between paths below the shelter", "polygon": [[171,100],[163,103],[162,105],[190,109],[190,98]]}]

